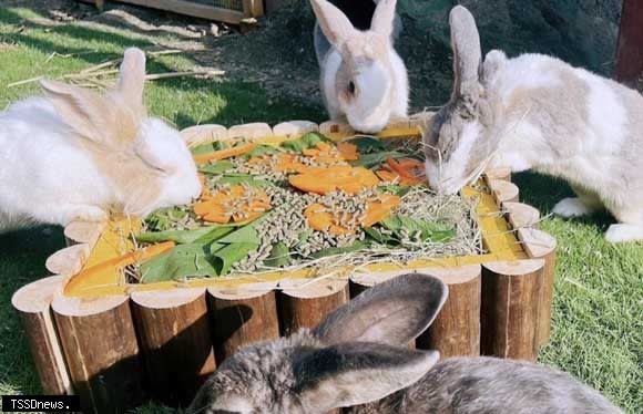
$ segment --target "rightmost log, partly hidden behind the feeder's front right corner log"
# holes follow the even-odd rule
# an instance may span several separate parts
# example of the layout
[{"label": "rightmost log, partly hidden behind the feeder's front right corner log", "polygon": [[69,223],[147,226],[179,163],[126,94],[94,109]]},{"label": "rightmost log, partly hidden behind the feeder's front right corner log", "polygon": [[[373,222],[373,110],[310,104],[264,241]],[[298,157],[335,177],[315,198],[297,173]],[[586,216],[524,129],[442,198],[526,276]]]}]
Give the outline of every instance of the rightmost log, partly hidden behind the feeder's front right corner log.
[{"label": "rightmost log, partly hidden behind the feeder's front right corner log", "polygon": [[551,334],[551,304],[555,279],[557,240],[551,235],[530,228],[518,230],[518,238],[532,259],[543,259],[542,289],[538,306],[538,346],[544,345]]}]

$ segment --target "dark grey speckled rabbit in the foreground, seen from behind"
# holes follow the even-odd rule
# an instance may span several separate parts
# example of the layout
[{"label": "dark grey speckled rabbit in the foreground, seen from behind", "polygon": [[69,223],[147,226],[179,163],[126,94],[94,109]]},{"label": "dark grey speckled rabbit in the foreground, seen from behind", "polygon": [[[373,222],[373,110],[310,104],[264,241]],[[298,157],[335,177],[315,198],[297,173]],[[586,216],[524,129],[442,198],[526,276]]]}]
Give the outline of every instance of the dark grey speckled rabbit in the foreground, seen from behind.
[{"label": "dark grey speckled rabbit in the foreground, seen from behind", "polygon": [[438,278],[409,273],[365,291],[319,325],[241,349],[187,413],[621,413],[570,375],[494,358],[439,360],[410,350],[447,299]]}]

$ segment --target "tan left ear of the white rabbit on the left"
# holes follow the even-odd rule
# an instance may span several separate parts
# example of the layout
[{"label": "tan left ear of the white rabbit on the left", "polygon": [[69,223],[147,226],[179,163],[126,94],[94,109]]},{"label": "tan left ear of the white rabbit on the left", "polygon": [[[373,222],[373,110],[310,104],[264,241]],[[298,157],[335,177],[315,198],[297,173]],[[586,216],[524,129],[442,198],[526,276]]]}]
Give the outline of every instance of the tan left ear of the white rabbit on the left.
[{"label": "tan left ear of the white rabbit on the left", "polygon": [[79,135],[106,141],[106,131],[113,128],[106,114],[105,99],[94,92],[55,81],[40,81],[40,85],[55,112]]}]

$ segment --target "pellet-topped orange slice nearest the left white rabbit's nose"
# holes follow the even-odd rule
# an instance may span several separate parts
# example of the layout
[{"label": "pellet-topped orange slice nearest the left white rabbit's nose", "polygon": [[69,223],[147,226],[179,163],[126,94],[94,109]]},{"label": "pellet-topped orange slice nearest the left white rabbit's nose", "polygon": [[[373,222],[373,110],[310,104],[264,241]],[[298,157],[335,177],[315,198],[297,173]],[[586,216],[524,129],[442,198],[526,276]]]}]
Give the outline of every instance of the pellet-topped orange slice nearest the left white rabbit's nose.
[{"label": "pellet-topped orange slice nearest the left white rabbit's nose", "polygon": [[193,209],[205,221],[239,222],[263,216],[271,209],[271,197],[259,188],[237,185],[203,196]]}]

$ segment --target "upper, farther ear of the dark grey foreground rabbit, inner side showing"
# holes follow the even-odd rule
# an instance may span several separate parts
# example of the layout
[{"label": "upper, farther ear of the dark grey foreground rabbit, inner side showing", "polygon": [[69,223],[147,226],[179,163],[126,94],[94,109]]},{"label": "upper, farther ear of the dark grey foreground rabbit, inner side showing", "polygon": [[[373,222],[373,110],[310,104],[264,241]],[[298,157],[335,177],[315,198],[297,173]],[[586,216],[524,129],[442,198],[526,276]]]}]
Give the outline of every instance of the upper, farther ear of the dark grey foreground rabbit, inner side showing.
[{"label": "upper, farther ear of the dark grey foreground rabbit, inner side showing", "polygon": [[378,342],[405,345],[433,321],[448,288],[440,279],[411,273],[377,284],[328,314],[314,334],[326,344]]}]

